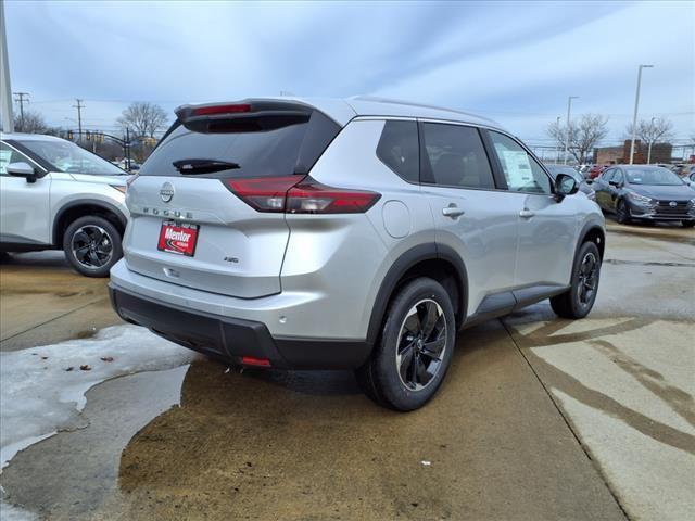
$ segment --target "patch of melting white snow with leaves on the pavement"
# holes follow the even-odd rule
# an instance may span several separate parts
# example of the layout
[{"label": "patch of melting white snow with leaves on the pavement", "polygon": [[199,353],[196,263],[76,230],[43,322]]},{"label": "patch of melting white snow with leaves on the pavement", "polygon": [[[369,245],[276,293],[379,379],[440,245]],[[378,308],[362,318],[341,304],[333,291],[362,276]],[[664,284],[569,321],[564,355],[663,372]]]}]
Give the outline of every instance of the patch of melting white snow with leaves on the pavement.
[{"label": "patch of melting white snow with leaves on the pavement", "polygon": [[0,469],[20,450],[58,431],[86,427],[80,411],[92,386],[124,374],[179,367],[195,356],[130,325],[103,329],[91,339],[0,353]]}]

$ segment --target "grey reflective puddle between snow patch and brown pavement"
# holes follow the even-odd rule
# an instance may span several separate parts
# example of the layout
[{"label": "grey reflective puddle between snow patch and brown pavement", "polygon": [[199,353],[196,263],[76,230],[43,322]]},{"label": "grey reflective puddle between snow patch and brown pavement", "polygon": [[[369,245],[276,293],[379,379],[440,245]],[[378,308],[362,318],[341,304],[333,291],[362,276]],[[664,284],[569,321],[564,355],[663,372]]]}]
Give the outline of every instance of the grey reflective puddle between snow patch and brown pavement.
[{"label": "grey reflective puddle between snow patch and brown pavement", "polygon": [[88,425],[18,453],[0,476],[3,499],[50,519],[93,518],[119,494],[123,448],[152,418],[179,404],[187,370],[129,374],[88,391]]}]

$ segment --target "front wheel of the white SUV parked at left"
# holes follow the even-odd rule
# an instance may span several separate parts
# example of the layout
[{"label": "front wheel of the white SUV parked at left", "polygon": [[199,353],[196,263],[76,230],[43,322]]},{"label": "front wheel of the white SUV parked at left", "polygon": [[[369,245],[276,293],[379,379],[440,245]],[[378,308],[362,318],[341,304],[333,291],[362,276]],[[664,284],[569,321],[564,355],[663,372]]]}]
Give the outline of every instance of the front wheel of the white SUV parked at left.
[{"label": "front wheel of the white SUV parked at left", "polygon": [[87,215],[70,224],[63,236],[65,258],[86,277],[109,277],[123,256],[121,233],[103,217]]}]

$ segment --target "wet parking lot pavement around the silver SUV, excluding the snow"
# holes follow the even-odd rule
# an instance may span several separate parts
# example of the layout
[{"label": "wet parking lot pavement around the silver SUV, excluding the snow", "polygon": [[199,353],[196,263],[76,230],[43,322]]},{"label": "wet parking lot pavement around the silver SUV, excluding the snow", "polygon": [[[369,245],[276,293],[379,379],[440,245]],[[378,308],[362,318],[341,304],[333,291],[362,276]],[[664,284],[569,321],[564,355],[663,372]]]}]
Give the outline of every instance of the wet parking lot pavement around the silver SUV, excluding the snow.
[{"label": "wet parking lot pavement around the silver SUV, excluding the snow", "polygon": [[[73,274],[56,253],[3,260],[0,297],[3,355],[89,342],[119,323],[105,281]],[[541,303],[465,331],[421,410],[383,410],[343,372],[226,372],[198,356],[125,371],[87,392],[76,427],[12,458],[3,511],[686,519],[694,317],[695,232],[610,224],[589,318],[558,319]]]}]

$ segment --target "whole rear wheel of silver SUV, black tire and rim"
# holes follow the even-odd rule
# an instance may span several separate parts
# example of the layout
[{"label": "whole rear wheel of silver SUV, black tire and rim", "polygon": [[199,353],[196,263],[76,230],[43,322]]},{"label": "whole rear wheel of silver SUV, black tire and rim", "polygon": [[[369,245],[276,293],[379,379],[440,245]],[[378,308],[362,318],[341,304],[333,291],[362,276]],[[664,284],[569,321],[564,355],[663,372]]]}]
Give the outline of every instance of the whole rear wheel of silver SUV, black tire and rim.
[{"label": "whole rear wheel of silver SUV, black tire and rim", "polygon": [[412,280],[392,297],[379,341],[356,370],[357,382],[384,407],[400,411],[422,407],[446,376],[456,332],[454,307],[444,288],[426,277]]}]

